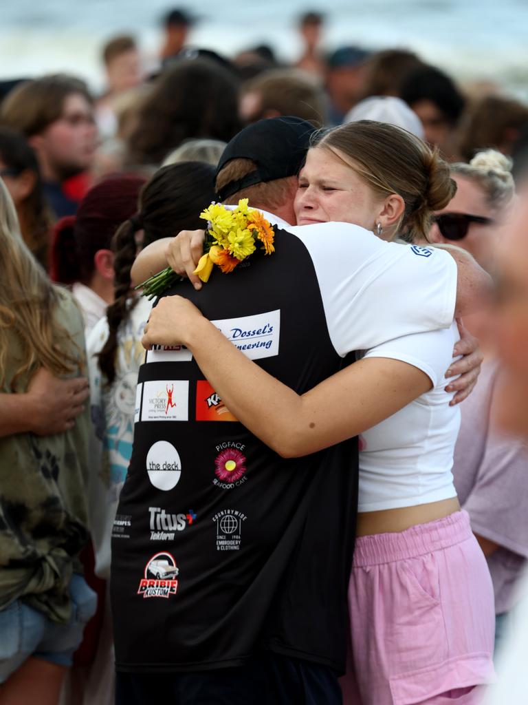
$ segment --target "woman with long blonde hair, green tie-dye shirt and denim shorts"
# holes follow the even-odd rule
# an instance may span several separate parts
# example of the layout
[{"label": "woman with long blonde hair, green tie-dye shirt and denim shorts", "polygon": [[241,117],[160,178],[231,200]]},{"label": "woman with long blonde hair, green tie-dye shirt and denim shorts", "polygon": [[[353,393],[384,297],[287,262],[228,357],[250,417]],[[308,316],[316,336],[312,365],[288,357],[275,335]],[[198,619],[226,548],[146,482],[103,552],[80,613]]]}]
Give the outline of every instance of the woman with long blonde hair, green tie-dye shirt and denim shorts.
[{"label": "woman with long blonde hair, green tie-dye shirt and denim shorts", "polygon": [[[38,369],[85,369],[82,319],[27,249],[0,180],[0,391]],[[95,608],[78,555],[87,539],[88,410],[53,435],[0,438],[0,704],[55,705]]]}]

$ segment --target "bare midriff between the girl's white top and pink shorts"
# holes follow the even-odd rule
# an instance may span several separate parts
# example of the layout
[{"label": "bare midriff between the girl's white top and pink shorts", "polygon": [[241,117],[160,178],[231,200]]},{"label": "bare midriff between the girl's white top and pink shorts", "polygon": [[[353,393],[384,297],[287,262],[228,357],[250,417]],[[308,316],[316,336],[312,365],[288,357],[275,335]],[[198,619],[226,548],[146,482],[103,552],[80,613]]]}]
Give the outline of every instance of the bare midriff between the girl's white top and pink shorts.
[{"label": "bare midriff between the girl's white top and pink shorts", "polygon": [[434,522],[436,519],[444,519],[444,517],[458,511],[460,511],[458,498],[452,497],[439,502],[417,504],[413,507],[361,512],[358,514],[356,536],[401,532],[417,524],[427,524],[427,522]]}]

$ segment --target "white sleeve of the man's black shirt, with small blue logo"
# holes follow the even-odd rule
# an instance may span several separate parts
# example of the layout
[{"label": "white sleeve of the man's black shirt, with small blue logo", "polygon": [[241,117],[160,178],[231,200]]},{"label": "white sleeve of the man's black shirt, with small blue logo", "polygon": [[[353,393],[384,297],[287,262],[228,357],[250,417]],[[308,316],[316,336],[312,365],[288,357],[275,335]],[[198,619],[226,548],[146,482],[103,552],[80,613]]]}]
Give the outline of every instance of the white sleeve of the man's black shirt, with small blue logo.
[{"label": "white sleeve of the man's black shirt, with small blue logo", "polygon": [[310,252],[329,335],[341,357],[451,326],[457,266],[445,250],[386,243],[349,223],[288,230]]}]

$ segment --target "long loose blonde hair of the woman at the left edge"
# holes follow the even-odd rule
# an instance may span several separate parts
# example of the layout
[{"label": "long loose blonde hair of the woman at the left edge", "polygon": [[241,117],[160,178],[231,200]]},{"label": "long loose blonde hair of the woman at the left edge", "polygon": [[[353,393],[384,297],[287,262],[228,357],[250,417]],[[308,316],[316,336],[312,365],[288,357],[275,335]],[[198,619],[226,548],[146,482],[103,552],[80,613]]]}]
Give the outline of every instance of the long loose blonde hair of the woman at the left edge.
[{"label": "long loose blonde hair of the woman at the left edge", "polygon": [[58,345],[59,341],[70,341],[67,331],[54,319],[60,293],[27,249],[13,201],[1,178],[0,240],[0,382],[6,381],[9,333],[13,332],[22,353],[11,381],[16,391],[20,375],[33,366],[42,365],[54,374],[70,374],[77,360]]}]

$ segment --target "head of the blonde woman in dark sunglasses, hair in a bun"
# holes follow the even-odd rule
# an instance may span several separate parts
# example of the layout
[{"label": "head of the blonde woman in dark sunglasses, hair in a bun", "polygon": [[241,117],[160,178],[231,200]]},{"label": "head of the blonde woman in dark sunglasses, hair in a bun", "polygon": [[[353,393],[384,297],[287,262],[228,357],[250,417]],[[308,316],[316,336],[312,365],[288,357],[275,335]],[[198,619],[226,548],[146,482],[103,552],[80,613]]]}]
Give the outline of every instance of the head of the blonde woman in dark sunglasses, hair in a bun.
[{"label": "head of the blonde woman in dark sunglasses, hair in a bun", "polygon": [[457,190],[447,206],[434,214],[429,242],[455,243],[486,271],[493,271],[497,229],[513,196],[510,166],[510,159],[494,149],[479,152],[470,164],[451,164]]}]

